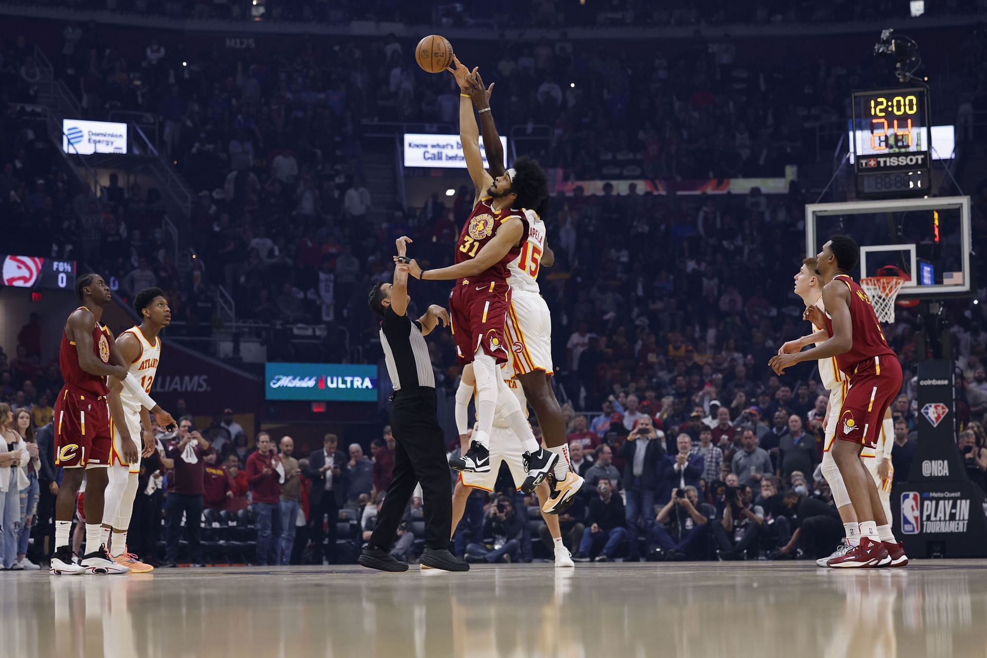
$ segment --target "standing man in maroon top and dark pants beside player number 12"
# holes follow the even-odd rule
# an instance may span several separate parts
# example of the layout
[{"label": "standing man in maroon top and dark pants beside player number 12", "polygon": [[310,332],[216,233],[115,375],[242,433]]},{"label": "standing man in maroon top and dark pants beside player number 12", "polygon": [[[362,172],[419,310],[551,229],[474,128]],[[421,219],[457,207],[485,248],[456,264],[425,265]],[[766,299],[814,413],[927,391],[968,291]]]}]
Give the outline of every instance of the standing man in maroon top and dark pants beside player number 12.
[{"label": "standing man in maroon top and dark pants beside player number 12", "polygon": [[202,521],[202,491],[205,462],[202,461],[209,442],[192,428],[191,418],[179,419],[178,443],[169,451],[174,471],[169,476],[165,513],[168,522],[165,566],[178,566],[179,542],[182,539],[182,519],[189,537],[189,557],[192,566],[202,566],[202,545],[199,527]]}]

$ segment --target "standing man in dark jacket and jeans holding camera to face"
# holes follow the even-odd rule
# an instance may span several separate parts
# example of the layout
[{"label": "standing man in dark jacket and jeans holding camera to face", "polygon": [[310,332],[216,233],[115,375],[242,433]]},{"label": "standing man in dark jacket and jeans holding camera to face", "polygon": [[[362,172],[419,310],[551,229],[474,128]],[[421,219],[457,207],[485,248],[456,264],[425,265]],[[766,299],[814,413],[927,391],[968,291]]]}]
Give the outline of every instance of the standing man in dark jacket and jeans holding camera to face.
[{"label": "standing man in dark jacket and jeans holding camera to face", "polygon": [[658,461],[665,455],[664,433],[654,429],[651,416],[643,415],[638,426],[631,430],[627,441],[620,448],[624,458],[624,498],[627,505],[628,541],[631,552],[628,559],[641,559],[638,547],[639,533],[646,536],[654,514],[654,487],[658,483]]}]

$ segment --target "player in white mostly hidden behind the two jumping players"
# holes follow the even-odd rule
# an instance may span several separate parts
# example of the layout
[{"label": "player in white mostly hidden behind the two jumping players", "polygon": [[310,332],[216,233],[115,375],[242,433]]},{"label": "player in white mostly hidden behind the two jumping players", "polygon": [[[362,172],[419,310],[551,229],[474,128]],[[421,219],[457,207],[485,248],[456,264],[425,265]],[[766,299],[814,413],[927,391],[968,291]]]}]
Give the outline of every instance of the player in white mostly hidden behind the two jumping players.
[{"label": "player in white mostly hidden behind the two jumping players", "polygon": [[[508,361],[500,366],[500,374],[504,379],[504,383],[511,393],[520,402],[521,408],[527,413],[528,402],[524,397],[524,389],[518,383],[516,379],[513,379],[513,368],[511,363]],[[473,376],[473,365],[469,364],[463,369],[463,382],[466,387],[473,388],[476,386],[476,379]],[[460,387],[463,388],[462,386]],[[463,401],[459,396],[456,399],[456,425],[459,429],[460,436],[466,436],[467,429],[467,417],[469,412],[469,399]],[[524,478],[528,475],[523,464],[523,447],[521,442],[518,440],[517,436],[511,431],[510,424],[507,419],[503,417],[502,404],[497,404],[496,414],[493,416],[493,432],[491,432],[491,469],[485,473],[470,473],[461,472],[459,474],[459,481],[456,482],[456,489],[452,495],[452,532],[455,534],[456,526],[459,525],[459,520],[463,518],[463,511],[466,509],[466,499],[470,496],[470,488],[483,489],[484,491],[493,491],[493,485],[496,483],[497,475],[500,473],[500,464],[506,463],[507,469],[510,470],[510,475],[514,480],[514,485],[520,489],[520,484],[524,481]],[[464,445],[468,442],[464,441]],[[544,505],[550,496],[550,489],[547,482],[542,482],[535,489],[535,493],[538,494],[538,501]],[[518,510],[518,513],[526,513],[524,510]],[[546,525],[549,527],[549,532],[552,535],[552,540],[555,543],[555,564],[561,567],[571,567],[575,566],[572,562],[572,556],[569,554],[569,549],[565,547],[562,542],[562,530],[559,526],[559,517],[554,514],[548,514],[544,510],[542,511],[542,518],[545,519]]]}]

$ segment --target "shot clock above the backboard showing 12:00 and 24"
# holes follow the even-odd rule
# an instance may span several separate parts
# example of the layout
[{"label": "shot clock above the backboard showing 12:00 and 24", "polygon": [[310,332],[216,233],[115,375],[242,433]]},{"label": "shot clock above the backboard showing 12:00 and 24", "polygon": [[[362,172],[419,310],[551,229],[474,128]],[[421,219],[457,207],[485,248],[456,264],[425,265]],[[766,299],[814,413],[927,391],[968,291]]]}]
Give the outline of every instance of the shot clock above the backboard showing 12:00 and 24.
[{"label": "shot clock above the backboard showing 12:00 and 24", "polygon": [[852,101],[857,195],[928,194],[932,180],[928,92],[922,87],[854,92]]}]

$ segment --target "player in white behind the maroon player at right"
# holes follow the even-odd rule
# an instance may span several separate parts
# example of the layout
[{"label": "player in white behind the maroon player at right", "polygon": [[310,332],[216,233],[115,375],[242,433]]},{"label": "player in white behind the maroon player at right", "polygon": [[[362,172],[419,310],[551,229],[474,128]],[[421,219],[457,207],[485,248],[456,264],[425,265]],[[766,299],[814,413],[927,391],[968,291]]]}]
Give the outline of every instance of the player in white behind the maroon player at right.
[{"label": "player in white behind the maroon player at right", "polygon": [[[815,273],[816,258],[811,256],[802,260],[801,267],[795,276],[795,292],[805,302],[805,307],[812,307],[825,311],[822,304],[822,284],[819,275]],[[825,329],[812,326],[813,332],[782,345],[778,350],[779,354],[796,353],[802,347],[809,344],[822,344],[829,333]],[[819,379],[823,387],[829,391],[829,401],[826,403],[826,415],[823,417],[822,429],[825,432],[823,443],[821,472],[829,483],[829,489],[833,493],[833,503],[840,513],[840,520],[846,530],[846,539],[840,544],[833,554],[820,557],[816,560],[819,566],[827,566],[831,557],[839,557],[846,554],[851,548],[860,545],[860,523],[854,506],[850,504],[850,497],[847,495],[846,484],[843,483],[843,476],[833,461],[833,441],[836,440],[836,426],[839,420],[840,409],[847,396],[847,376],[844,375],[836,363],[835,357],[819,359]],[[884,420],[881,422],[880,437],[877,441],[876,450],[866,449],[861,453],[861,459],[868,472],[873,477],[877,486],[877,493],[880,497],[881,507],[884,508],[884,516],[890,522],[891,519],[891,481],[894,476],[894,469],[891,467],[891,447],[893,446],[890,437],[892,434],[891,411],[884,412]]]}]

